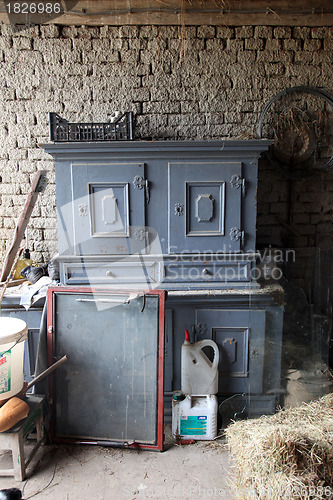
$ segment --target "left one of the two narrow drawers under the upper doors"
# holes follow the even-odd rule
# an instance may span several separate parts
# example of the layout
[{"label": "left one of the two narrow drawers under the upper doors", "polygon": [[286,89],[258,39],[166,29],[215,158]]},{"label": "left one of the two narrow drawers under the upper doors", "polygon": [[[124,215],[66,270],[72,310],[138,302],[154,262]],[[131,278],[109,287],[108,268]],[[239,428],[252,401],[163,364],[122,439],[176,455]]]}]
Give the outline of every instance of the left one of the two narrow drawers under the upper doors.
[{"label": "left one of the two narrow drawers under the upper doors", "polygon": [[66,284],[135,284],[159,283],[163,265],[156,260],[116,260],[64,262],[60,264]]}]

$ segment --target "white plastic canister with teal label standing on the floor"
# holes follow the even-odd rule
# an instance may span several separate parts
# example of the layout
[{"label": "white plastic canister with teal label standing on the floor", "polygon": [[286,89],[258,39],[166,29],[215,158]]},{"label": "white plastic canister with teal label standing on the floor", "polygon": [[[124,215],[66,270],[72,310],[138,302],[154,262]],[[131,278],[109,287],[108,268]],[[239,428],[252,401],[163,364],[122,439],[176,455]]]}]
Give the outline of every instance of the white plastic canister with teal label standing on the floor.
[{"label": "white plastic canister with teal label standing on the floor", "polygon": [[217,436],[217,398],[214,395],[172,396],[172,435],[177,441],[211,440]]}]

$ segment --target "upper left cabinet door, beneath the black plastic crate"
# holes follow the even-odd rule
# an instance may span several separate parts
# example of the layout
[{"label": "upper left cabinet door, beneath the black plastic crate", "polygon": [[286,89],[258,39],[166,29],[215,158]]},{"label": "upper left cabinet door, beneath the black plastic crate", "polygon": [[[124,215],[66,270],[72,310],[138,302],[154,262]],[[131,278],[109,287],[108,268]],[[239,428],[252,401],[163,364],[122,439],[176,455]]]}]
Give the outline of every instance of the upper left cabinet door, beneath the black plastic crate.
[{"label": "upper left cabinet door, beneath the black plastic crate", "polygon": [[72,164],[76,255],[146,252],[142,163]]}]

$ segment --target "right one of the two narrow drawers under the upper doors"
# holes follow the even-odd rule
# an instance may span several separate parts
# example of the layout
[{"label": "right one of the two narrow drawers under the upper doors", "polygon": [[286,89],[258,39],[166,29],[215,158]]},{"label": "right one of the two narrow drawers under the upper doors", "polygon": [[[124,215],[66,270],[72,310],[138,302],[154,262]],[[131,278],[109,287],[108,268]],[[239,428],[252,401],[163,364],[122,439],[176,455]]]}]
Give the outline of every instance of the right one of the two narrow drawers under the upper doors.
[{"label": "right one of the two narrow drawers under the upper doors", "polygon": [[250,281],[251,262],[209,261],[165,263],[164,282],[244,282]]}]

